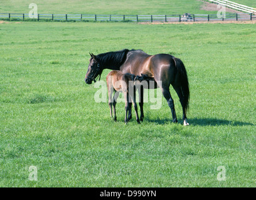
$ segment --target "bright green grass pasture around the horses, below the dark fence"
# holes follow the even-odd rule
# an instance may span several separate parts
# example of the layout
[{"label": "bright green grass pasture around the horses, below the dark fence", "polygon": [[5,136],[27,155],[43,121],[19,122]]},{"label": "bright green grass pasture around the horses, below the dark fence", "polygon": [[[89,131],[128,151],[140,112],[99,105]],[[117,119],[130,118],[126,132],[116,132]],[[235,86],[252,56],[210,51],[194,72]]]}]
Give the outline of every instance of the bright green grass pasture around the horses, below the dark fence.
[{"label": "bright green grass pasture around the horses, below the dark fence", "polygon": [[[1,187],[256,186],[255,24],[9,22],[0,29]],[[190,126],[181,124],[173,88],[178,124],[164,98],[161,109],[144,104],[142,124],[133,109],[127,126],[124,103],[115,123],[108,104],[94,101],[99,89],[84,82],[89,52],[124,48],[184,62]],[[30,166],[37,181],[29,180]],[[226,181],[217,179],[219,166]]]}]

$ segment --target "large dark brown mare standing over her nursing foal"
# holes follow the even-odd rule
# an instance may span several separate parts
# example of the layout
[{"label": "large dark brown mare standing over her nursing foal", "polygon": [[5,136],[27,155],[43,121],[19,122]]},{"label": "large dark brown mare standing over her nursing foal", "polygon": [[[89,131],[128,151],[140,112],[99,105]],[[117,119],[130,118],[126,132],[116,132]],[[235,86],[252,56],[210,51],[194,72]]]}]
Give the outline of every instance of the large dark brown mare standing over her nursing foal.
[{"label": "large dark brown mare standing over her nursing foal", "polygon": [[[154,77],[155,88],[160,87],[164,98],[171,108],[173,122],[177,123],[173,98],[169,92],[172,85],[179,96],[179,101],[183,108],[184,126],[189,125],[186,118],[186,111],[189,107],[189,84],[188,76],[183,62],[170,54],[149,55],[142,50],[128,50],[108,52],[97,56],[90,54],[90,64],[88,65],[85,83],[92,84],[104,69],[120,70],[123,74],[131,73],[137,75],[147,74]],[[143,112],[143,89],[139,92],[139,106],[141,109],[141,121],[144,118]],[[131,103],[130,103],[131,104]],[[131,108],[131,106],[130,106]],[[131,111],[129,111],[131,119]]]}]

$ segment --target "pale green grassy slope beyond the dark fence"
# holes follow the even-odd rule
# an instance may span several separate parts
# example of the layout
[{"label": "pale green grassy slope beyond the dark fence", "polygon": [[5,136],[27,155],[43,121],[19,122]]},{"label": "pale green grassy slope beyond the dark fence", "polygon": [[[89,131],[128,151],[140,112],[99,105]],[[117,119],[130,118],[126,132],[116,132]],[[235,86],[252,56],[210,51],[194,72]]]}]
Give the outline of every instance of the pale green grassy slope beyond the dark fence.
[{"label": "pale green grassy slope beyond the dark fence", "polygon": [[[1,0],[2,13],[28,13],[28,0]],[[204,2],[198,0],[35,0],[41,14],[214,14],[216,11],[201,10]]]}]

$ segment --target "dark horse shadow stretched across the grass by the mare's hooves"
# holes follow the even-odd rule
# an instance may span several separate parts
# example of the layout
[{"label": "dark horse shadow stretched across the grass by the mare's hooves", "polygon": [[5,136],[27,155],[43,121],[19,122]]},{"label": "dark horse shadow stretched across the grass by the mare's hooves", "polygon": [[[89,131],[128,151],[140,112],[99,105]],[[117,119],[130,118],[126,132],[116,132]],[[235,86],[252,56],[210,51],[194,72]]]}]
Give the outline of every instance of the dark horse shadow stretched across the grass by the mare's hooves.
[{"label": "dark horse shadow stretched across the grass by the mare's hooves", "polygon": [[[156,123],[156,124],[166,124],[171,119],[145,119],[146,121],[149,121],[150,123]],[[189,118],[188,123],[193,126],[253,126],[255,124],[252,123],[245,123],[242,121],[230,121],[227,119],[216,119],[216,118]],[[178,124],[183,124],[182,120],[178,120]]]}]

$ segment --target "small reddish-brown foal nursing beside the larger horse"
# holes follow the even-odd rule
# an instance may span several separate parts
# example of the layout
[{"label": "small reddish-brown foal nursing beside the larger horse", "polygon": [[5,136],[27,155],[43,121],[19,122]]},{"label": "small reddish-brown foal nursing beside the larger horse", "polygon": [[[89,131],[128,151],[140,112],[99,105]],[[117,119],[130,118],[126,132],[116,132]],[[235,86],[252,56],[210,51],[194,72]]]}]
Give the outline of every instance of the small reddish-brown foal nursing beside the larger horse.
[{"label": "small reddish-brown foal nursing beside the larger horse", "polygon": [[[152,81],[151,77],[147,76],[146,74],[141,74],[142,76],[135,76],[134,74],[130,73],[121,73],[119,70],[112,70],[109,74],[107,74],[107,89],[109,93],[109,109],[110,115],[113,117],[112,114],[112,106],[114,109],[114,121],[117,121],[117,116],[115,113],[115,104],[117,103],[117,98],[119,93],[124,93],[124,100],[125,100],[125,118],[124,122],[127,124],[129,121],[127,118],[127,113],[130,111],[130,98],[132,104],[135,109],[136,113],[136,121],[140,124],[139,116],[138,116],[138,109],[136,103],[136,88],[142,81]],[[114,96],[113,96],[114,94]],[[130,98],[129,98],[130,97]]]}]

